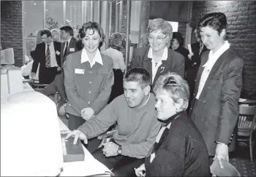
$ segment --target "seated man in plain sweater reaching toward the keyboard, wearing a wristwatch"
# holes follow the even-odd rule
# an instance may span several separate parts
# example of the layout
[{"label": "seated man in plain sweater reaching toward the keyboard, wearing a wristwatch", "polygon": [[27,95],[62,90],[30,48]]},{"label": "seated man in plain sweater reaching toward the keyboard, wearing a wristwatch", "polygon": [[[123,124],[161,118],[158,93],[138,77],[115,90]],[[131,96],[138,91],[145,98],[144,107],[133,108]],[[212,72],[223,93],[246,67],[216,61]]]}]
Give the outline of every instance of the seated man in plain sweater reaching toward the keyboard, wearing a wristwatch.
[{"label": "seated man in plain sweater reaching toward the keyboard, wearing a wristwatch", "polygon": [[134,167],[143,162],[159,132],[160,122],[154,108],[156,98],[150,93],[151,76],[143,68],[132,68],[124,75],[124,95],[67,135],[75,136],[74,143],[97,137],[117,123],[109,143],[92,155],[116,176],[134,176]]}]

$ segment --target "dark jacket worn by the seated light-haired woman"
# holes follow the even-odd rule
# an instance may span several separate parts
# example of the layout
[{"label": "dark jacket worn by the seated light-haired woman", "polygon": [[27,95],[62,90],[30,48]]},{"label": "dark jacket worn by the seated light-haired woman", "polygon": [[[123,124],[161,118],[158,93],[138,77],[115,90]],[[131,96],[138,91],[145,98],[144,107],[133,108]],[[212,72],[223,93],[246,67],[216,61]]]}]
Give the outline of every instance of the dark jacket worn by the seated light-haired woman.
[{"label": "dark jacket worn by the seated light-haired woman", "polygon": [[[187,113],[173,115],[163,127],[159,143],[154,143],[146,157],[146,176],[209,176],[206,143]],[[152,154],[155,157],[150,161]]]}]

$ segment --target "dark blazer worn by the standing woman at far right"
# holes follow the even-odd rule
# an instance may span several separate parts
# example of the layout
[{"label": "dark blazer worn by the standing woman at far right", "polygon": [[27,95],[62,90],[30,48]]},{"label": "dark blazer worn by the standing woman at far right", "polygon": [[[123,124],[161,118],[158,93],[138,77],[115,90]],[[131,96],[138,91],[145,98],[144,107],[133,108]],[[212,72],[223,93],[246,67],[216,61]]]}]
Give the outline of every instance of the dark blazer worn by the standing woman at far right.
[{"label": "dark blazer worn by the standing woman at far right", "polygon": [[201,58],[189,114],[206,141],[209,155],[214,156],[216,141],[229,144],[236,126],[244,61],[233,50],[226,50],[214,64],[199,99],[195,101],[209,52],[204,52]]}]

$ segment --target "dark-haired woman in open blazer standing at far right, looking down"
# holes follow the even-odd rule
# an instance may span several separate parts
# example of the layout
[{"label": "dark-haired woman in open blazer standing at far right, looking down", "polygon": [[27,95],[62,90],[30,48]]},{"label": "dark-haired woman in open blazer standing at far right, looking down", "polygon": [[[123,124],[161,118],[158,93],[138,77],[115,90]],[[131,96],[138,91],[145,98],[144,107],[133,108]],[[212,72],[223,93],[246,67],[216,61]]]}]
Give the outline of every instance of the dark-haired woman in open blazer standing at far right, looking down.
[{"label": "dark-haired woman in open blazer standing at far right, looking down", "polygon": [[208,149],[210,160],[229,160],[228,145],[238,119],[244,62],[225,41],[227,18],[222,12],[205,15],[197,30],[208,51],[201,57],[192,107],[189,110]]}]

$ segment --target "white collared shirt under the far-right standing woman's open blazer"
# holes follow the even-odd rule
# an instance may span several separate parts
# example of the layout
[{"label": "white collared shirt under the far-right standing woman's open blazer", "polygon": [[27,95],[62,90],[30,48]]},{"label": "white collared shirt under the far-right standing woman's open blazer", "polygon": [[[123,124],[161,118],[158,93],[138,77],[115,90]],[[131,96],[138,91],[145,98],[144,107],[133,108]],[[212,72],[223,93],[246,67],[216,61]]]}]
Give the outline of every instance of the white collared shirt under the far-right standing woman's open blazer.
[{"label": "white collared shirt under the far-right standing woman's open blazer", "polygon": [[198,99],[200,97],[203,87],[206,84],[206,80],[211,72],[211,68],[213,68],[213,66],[217,62],[219,56],[222,55],[222,53],[224,53],[229,48],[230,48],[230,43],[225,41],[225,43],[222,45],[222,47],[219,47],[219,49],[216,52],[213,53],[212,50],[209,52],[208,60],[207,60],[206,64],[203,65],[203,67],[204,67],[203,73],[201,75],[197,95],[195,98]]}]

